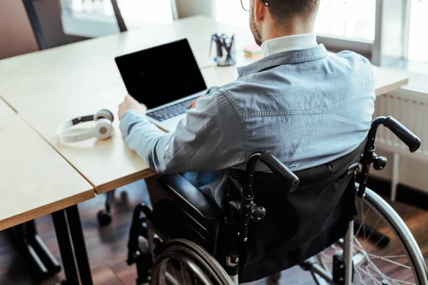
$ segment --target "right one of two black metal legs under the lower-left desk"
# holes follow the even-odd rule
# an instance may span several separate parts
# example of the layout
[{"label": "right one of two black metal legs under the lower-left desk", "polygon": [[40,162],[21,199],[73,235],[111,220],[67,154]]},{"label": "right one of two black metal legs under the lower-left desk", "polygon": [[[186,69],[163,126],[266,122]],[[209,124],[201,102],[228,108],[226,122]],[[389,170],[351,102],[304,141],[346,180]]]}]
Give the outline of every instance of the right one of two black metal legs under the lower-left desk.
[{"label": "right one of two black metal legs under the lower-left desk", "polygon": [[85,239],[83,237],[77,205],[68,207],[66,213],[81,283],[82,285],[93,285],[91,267],[89,266],[88,254],[86,253]]}]

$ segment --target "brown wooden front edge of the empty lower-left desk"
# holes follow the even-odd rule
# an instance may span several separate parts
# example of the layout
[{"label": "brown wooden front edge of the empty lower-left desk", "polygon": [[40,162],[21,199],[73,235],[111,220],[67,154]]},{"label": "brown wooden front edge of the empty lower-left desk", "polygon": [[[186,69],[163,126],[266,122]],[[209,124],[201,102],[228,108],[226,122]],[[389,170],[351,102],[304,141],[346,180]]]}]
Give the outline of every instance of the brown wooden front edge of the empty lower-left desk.
[{"label": "brown wooden front edge of the empty lower-left desk", "polygon": [[15,216],[9,217],[0,222],[0,231],[8,229],[9,227],[14,227],[24,222],[29,222],[31,221],[31,219],[43,217],[46,214],[51,214],[53,212],[59,211],[60,209],[66,209],[67,207],[71,207],[75,204],[85,202],[89,199],[92,199],[93,197],[95,197],[95,194],[93,192],[93,189],[90,189],[74,196],[67,197],[56,202],[52,202],[51,204],[46,204],[39,208],[31,209],[30,211],[23,212],[21,214],[16,214]]}]

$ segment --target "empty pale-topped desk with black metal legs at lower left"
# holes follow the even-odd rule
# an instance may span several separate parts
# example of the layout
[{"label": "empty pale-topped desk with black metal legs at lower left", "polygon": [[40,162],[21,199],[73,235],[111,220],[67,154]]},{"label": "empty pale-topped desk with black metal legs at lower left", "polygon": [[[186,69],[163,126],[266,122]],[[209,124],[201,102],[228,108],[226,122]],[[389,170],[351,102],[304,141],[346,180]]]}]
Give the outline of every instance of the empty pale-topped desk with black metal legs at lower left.
[{"label": "empty pale-topped desk with black metal legs at lower left", "polygon": [[[68,284],[91,279],[77,204],[95,197],[93,187],[0,98],[0,231],[16,228],[18,244],[41,274],[56,261],[37,236],[34,219],[52,214]],[[67,215],[65,214],[67,213]],[[76,249],[73,254],[71,239]]]}]

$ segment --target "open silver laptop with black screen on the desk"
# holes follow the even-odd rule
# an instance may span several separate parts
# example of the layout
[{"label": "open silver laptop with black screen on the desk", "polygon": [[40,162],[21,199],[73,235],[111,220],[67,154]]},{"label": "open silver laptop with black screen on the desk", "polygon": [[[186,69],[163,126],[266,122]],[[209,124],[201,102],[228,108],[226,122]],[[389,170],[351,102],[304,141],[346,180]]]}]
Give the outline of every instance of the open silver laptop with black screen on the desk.
[{"label": "open silver laptop with black screen on the desk", "polygon": [[190,103],[207,86],[187,39],[115,58],[129,95],[144,103],[147,117],[173,131]]}]

